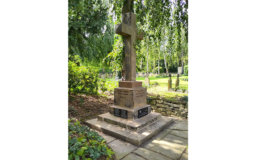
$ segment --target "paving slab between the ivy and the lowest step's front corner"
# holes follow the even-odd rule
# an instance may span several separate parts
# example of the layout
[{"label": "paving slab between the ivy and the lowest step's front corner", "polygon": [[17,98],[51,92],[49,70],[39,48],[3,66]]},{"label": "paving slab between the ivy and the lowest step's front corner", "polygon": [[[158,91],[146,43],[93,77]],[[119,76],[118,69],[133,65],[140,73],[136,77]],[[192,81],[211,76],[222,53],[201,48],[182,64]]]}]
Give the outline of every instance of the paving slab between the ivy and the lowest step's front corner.
[{"label": "paving slab between the ivy and the lowest step's front corner", "polygon": [[133,150],[137,149],[137,146],[134,146],[133,144],[124,142],[123,140],[114,140],[110,143],[108,143],[108,146],[112,148],[112,150],[115,152],[116,158],[121,159],[124,156],[131,153]]}]

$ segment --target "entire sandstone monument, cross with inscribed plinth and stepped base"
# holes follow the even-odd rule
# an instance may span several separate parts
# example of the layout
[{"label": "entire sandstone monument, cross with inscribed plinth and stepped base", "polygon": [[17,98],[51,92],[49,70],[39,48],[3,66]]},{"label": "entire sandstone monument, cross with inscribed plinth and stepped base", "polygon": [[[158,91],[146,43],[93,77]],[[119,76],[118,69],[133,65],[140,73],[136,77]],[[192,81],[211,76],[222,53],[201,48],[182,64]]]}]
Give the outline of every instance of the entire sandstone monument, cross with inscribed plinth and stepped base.
[{"label": "entire sandstone monument, cross with inscribed plinth and stepped base", "polygon": [[118,82],[114,89],[114,105],[109,113],[86,121],[86,124],[97,131],[140,146],[165,127],[173,123],[170,117],[152,112],[147,105],[147,88],[136,81],[136,53],[133,49],[135,38],[143,40],[143,33],[137,34],[136,16],[131,12],[133,0],[125,1],[122,8],[122,23],[115,25],[116,34],[125,36],[124,81]]}]

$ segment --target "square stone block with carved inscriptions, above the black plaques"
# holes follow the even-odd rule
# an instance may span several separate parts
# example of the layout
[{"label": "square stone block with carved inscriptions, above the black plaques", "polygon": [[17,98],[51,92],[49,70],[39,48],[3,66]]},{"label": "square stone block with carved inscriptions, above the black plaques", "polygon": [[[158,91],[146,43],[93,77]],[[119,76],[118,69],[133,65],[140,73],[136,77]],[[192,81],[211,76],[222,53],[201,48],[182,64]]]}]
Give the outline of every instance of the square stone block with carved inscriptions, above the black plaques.
[{"label": "square stone block with carved inscriptions, above the black plaques", "polygon": [[136,108],[147,104],[147,88],[145,87],[117,87],[114,92],[115,106]]}]

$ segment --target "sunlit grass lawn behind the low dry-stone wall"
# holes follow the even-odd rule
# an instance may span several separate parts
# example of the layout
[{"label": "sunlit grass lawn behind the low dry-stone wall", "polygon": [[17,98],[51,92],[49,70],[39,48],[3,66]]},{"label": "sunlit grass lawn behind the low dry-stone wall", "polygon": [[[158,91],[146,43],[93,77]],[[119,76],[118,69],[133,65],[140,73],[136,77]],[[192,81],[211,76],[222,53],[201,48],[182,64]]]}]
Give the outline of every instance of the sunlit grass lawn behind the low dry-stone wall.
[{"label": "sunlit grass lawn behind the low dry-stone wall", "polygon": [[[181,76],[181,77],[188,77],[188,76]],[[170,100],[175,100],[184,95],[188,95],[187,93],[178,93],[178,92],[168,91],[167,83],[168,83],[169,77],[156,78],[155,76],[151,76],[151,77],[149,76],[148,78],[149,78],[150,82],[156,81],[159,83],[159,86],[147,88],[148,95],[150,95],[150,96],[153,96],[153,97],[160,96],[160,97],[164,97],[164,98],[167,98]],[[172,88],[174,88],[177,77],[171,77],[171,78],[172,78]],[[138,78],[136,78],[136,81],[144,82],[144,79],[145,78],[138,77]],[[183,81],[180,79],[180,86],[188,87],[188,81]]]}]

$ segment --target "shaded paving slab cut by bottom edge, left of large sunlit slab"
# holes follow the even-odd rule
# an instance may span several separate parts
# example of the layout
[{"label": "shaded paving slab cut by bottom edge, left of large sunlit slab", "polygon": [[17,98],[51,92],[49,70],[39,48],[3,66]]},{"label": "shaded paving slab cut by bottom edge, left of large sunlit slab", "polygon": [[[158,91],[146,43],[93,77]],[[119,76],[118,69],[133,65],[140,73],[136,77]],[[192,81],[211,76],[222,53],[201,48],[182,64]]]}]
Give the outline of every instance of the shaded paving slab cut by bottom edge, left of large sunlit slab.
[{"label": "shaded paving slab cut by bottom edge, left of large sunlit slab", "polygon": [[138,148],[135,151],[133,151],[134,153],[137,153],[140,156],[145,157],[148,160],[172,160],[170,157],[161,155],[159,153],[153,152],[151,150],[148,150],[146,148]]}]

